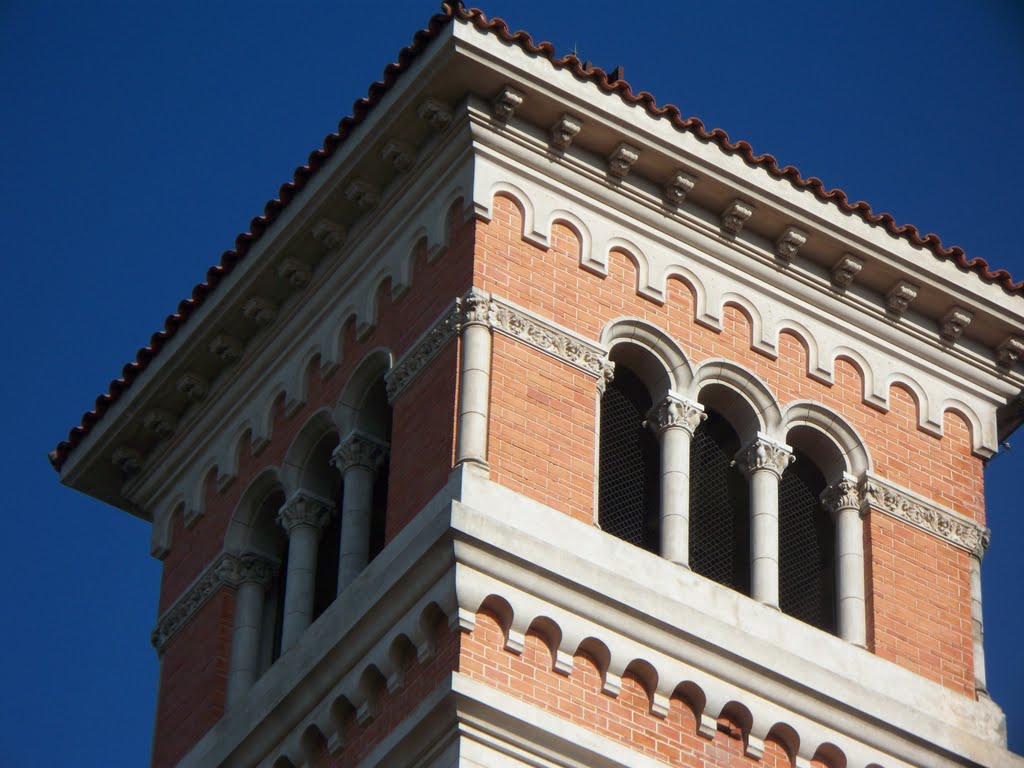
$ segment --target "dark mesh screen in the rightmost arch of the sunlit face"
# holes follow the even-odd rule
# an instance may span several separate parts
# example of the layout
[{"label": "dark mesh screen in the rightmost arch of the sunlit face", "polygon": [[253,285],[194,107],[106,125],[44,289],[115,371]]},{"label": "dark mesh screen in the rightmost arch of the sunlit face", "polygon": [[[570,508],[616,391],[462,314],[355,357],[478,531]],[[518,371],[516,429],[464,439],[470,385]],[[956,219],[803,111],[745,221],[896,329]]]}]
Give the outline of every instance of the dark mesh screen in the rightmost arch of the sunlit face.
[{"label": "dark mesh screen in the rightmost arch of the sunlit face", "polygon": [[806,454],[794,454],[778,489],[779,607],[835,633],[835,534],[820,502],[825,481]]}]

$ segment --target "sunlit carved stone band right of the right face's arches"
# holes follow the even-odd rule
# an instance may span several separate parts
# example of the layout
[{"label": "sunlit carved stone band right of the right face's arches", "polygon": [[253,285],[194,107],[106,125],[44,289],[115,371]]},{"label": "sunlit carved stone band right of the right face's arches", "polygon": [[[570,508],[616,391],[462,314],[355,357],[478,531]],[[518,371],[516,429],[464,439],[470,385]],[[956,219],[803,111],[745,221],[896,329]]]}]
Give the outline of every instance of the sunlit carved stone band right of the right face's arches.
[{"label": "sunlit carved stone band right of the right face's arches", "polygon": [[865,475],[860,495],[864,511],[873,509],[908,522],[979,559],[988,549],[991,539],[988,528],[881,477]]}]

